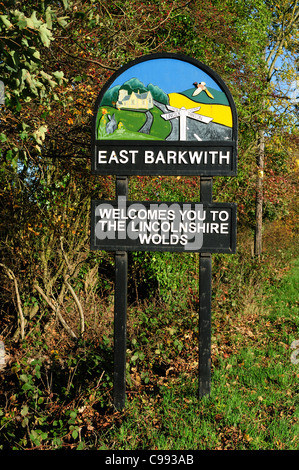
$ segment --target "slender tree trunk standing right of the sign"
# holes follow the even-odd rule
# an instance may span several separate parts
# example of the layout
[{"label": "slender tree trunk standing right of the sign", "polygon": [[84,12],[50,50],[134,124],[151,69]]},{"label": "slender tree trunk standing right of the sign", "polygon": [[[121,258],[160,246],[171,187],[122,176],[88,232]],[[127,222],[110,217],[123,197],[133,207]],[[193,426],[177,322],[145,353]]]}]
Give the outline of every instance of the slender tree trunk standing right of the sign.
[{"label": "slender tree trunk standing right of the sign", "polygon": [[265,133],[260,131],[257,154],[257,184],[256,184],[256,210],[255,210],[255,236],[254,255],[260,257],[262,254],[262,228],[263,228],[263,182],[264,182],[264,159],[265,159]]}]

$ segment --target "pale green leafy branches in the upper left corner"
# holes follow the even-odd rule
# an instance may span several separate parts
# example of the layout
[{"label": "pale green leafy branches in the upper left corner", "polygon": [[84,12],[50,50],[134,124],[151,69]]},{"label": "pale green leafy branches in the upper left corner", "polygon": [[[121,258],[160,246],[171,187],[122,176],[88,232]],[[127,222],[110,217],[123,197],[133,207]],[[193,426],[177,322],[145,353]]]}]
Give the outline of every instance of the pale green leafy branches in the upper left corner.
[{"label": "pale green leafy branches in the upper left corner", "polygon": [[[14,169],[19,159],[28,161],[28,146],[33,144],[41,151],[48,130],[43,119],[35,122],[28,119],[26,110],[33,103],[50,109],[51,102],[58,100],[55,88],[63,83],[64,73],[59,70],[47,73],[40,51],[50,47],[54,40],[53,29],[62,24],[65,24],[63,18],[57,18],[50,6],[42,13],[33,10],[27,16],[11,5],[11,9],[0,15],[0,77],[5,86],[5,107],[1,109],[4,120],[1,141],[5,145],[1,154]],[[12,132],[14,114],[20,115],[20,119],[14,123]]]}]

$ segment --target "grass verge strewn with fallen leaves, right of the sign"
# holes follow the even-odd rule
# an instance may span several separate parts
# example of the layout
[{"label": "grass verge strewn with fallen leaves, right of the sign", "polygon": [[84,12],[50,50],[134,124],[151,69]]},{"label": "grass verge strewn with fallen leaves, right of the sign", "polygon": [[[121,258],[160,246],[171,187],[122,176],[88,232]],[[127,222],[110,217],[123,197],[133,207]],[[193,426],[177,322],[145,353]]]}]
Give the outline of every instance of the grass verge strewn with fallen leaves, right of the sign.
[{"label": "grass verge strewn with fallen leaves, right of the sign", "polygon": [[210,397],[197,398],[196,371],[160,379],[154,393],[129,393],[102,449],[298,449],[299,371],[290,360],[298,275],[296,262],[266,298],[256,298],[261,314],[248,330],[232,333],[233,354],[214,354]]}]

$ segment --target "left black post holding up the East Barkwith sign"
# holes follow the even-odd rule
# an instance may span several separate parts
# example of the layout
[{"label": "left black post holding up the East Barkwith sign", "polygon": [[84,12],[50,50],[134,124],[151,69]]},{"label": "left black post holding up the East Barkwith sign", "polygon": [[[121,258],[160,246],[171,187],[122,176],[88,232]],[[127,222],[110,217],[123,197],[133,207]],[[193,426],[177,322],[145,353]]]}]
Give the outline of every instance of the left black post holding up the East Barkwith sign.
[{"label": "left black post holding up the East Barkwith sign", "polygon": [[[116,177],[116,198],[128,195],[128,177]],[[121,410],[126,400],[128,253],[115,253],[114,293],[114,406]]]}]

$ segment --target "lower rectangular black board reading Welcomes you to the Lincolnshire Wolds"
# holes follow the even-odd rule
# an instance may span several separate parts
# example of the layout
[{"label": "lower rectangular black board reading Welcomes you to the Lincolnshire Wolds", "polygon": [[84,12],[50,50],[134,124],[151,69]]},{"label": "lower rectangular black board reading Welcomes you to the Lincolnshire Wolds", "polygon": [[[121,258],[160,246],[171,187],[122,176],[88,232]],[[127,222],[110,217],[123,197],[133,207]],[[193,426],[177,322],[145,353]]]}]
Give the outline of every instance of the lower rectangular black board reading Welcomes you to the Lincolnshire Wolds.
[{"label": "lower rectangular black board reading Welcomes you to the Lincolnshire Wolds", "polygon": [[91,249],[235,253],[236,218],[228,203],[92,201]]}]

